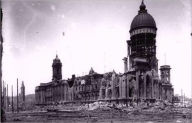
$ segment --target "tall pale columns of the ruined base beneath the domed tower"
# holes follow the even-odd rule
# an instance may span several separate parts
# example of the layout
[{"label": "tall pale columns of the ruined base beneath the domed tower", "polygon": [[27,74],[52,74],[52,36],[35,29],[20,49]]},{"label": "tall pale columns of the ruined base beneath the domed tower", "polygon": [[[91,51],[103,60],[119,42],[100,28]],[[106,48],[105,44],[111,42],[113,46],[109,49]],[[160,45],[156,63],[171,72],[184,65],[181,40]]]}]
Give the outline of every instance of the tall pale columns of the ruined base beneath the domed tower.
[{"label": "tall pale columns of the ruined base beneath the domed tower", "polygon": [[[133,75],[127,74],[119,77],[119,97],[116,95],[115,77],[112,76],[111,88],[101,87],[99,93],[100,100],[115,100],[115,99],[160,99],[161,91],[159,80],[144,73],[143,79],[140,79],[141,72],[137,71],[135,78]],[[130,79],[132,80],[130,81]],[[135,80],[136,79],[136,80]],[[130,91],[130,89],[132,89]],[[109,98],[108,92],[112,91],[112,96]],[[104,93],[104,95],[103,95]],[[131,97],[130,94],[132,93]]]}]

